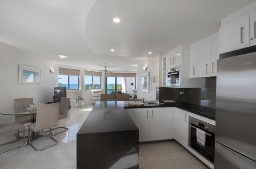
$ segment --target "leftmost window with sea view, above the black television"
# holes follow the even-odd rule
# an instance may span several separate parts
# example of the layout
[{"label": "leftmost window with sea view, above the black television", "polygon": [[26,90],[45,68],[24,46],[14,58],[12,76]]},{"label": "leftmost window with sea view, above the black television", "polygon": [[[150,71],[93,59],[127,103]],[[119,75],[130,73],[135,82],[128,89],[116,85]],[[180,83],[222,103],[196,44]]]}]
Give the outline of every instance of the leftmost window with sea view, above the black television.
[{"label": "leftmost window with sea view, above the black television", "polygon": [[79,76],[58,75],[58,86],[67,90],[79,90]]}]

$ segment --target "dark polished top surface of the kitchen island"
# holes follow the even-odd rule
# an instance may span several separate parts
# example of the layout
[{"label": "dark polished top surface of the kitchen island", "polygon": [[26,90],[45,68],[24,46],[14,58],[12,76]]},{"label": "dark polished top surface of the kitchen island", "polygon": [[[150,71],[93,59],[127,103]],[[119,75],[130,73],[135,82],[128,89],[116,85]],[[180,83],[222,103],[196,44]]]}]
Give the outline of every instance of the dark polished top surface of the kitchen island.
[{"label": "dark polished top surface of the kitchen island", "polygon": [[125,101],[96,102],[77,134],[138,130],[125,105]]}]

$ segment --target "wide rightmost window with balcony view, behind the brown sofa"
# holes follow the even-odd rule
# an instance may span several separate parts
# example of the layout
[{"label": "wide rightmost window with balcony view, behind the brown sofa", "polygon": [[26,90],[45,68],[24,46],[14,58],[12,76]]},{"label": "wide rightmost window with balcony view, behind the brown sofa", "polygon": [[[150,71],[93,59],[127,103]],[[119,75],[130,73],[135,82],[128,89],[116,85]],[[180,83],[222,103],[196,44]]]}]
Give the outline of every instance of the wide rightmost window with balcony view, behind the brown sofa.
[{"label": "wide rightmost window with balcony view, behind the brown sofa", "polygon": [[[132,87],[130,84],[134,83]],[[133,93],[136,86],[135,77],[106,77],[106,93]]]}]

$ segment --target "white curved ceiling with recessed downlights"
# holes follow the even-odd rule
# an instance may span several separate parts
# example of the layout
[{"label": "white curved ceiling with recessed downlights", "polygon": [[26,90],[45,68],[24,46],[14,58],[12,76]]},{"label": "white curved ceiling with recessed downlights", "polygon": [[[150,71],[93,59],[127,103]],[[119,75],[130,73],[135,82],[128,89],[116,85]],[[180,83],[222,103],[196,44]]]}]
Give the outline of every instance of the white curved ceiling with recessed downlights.
[{"label": "white curved ceiling with recessed downlights", "polygon": [[1,0],[0,42],[61,65],[100,69],[108,63],[119,66],[112,70],[136,71],[148,51],[155,56],[216,33],[223,17],[251,2]]}]

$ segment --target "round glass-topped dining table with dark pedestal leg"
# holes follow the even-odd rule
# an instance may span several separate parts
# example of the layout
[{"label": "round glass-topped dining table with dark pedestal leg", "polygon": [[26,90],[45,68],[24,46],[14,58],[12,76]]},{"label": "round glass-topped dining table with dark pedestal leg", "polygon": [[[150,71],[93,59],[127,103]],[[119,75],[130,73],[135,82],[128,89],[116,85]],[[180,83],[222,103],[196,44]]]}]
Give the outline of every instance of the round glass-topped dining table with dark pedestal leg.
[{"label": "round glass-topped dining table with dark pedestal leg", "polygon": [[[31,123],[35,123],[35,115],[37,113],[37,108],[31,107],[18,107],[18,108],[8,108],[5,110],[0,110],[0,114],[7,116],[21,116],[21,115],[31,115]],[[31,130],[32,138],[35,139],[38,133]]]}]

